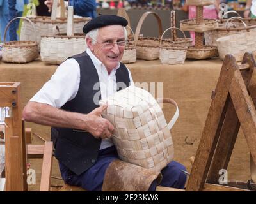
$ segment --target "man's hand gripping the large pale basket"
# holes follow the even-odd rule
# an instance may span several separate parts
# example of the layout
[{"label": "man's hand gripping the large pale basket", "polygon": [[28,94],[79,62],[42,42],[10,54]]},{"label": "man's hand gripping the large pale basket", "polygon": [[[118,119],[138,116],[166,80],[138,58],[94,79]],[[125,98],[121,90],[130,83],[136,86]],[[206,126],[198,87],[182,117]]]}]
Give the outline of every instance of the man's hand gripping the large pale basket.
[{"label": "man's hand gripping the large pale basket", "polygon": [[95,138],[110,138],[115,130],[113,125],[101,116],[107,107],[108,105],[100,106],[87,115],[90,124],[87,131],[95,136]]}]

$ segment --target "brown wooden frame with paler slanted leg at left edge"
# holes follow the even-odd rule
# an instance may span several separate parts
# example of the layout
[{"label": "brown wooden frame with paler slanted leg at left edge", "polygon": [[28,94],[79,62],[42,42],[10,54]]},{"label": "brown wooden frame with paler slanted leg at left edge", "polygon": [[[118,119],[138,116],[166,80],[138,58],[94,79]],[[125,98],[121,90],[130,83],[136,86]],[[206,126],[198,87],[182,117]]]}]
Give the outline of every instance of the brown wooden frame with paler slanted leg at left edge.
[{"label": "brown wooden frame with paler slanted leg at left edge", "polygon": [[[12,108],[5,118],[5,187],[6,191],[28,191],[26,157],[43,158],[40,191],[49,191],[52,170],[52,142],[26,145],[29,132],[22,122],[20,83],[0,82],[0,107]],[[29,142],[29,141],[28,141]],[[29,142],[31,143],[31,141]]]}]

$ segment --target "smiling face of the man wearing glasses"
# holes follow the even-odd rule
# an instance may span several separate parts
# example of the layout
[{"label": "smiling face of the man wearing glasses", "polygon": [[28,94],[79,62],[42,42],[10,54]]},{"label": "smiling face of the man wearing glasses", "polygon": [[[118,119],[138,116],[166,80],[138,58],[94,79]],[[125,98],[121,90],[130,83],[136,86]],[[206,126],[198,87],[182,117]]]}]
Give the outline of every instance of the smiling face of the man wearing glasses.
[{"label": "smiling face of the man wearing glasses", "polygon": [[[124,28],[121,25],[108,25],[99,29],[97,42],[92,45],[89,42],[89,48],[93,54],[106,66],[110,73],[112,69],[116,68],[118,62],[123,57],[124,46],[119,46],[115,43],[118,41],[125,41]],[[110,46],[104,43],[113,43]],[[113,46],[112,46],[113,45]]]}]

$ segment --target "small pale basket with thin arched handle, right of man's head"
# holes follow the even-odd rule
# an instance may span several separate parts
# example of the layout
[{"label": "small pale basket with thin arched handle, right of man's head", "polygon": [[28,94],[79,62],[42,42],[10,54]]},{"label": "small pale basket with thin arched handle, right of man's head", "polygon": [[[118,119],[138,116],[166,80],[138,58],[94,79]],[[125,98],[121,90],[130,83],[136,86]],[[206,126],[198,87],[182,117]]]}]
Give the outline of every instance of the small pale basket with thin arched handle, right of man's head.
[{"label": "small pale basket with thin arched handle, right of man's head", "polygon": [[[178,29],[176,27],[170,27],[170,28],[166,29],[164,31],[164,33],[166,33],[166,31],[168,31],[170,29],[177,29],[177,30],[181,31],[180,29]],[[181,32],[184,35],[185,46],[182,46],[179,44],[172,44],[172,42],[170,42],[169,45],[163,45],[162,39],[163,39],[164,33],[161,36],[160,45],[159,45],[159,47],[160,47],[159,59],[162,64],[184,64],[188,47],[186,45],[185,33],[183,31],[181,31]]]}]

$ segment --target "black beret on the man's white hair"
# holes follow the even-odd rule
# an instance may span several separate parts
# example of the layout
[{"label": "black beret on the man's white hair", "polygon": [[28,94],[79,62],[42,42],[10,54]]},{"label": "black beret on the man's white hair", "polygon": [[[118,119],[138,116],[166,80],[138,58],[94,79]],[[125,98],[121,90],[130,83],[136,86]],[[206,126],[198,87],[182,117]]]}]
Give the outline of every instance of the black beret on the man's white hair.
[{"label": "black beret on the man's white hair", "polygon": [[118,15],[100,15],[99,17],[93,18],[83,27],[83,32],[86,34],[93,29],[104,27],[107,25],[123,25],[124,27],[128,24],[127,20]]}]

